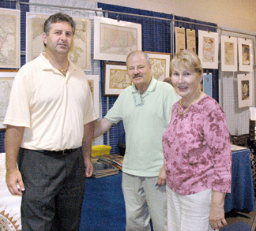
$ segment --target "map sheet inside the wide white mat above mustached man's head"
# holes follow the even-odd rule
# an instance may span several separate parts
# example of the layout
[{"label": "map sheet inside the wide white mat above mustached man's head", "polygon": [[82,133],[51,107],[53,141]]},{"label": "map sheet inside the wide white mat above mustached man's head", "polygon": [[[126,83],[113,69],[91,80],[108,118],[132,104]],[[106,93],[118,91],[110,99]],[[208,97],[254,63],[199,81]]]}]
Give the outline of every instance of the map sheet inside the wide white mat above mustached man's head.
[{"label": "map sheet inside the wide white mat above mustached man's head", "polygon": [[101,23],[100,31],[103,35],[100,38],[100,53],[127,55],[137,50],[136,28]]}]

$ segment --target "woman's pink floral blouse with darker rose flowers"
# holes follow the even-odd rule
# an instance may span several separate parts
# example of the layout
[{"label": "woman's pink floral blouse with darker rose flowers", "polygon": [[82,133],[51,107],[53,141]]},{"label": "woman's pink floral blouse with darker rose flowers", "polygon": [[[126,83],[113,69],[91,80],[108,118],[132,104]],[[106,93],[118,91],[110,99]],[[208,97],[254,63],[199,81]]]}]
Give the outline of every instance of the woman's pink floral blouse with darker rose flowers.
[{"label": "woman's pink floral blouse with darker rose flowers", "polygon": [[186,114],[179,115],[178,109],[176,102],[163,135],[168,187],[179,195],[207,188],[231,192],[232,152],[224,111],[209,95]]}]

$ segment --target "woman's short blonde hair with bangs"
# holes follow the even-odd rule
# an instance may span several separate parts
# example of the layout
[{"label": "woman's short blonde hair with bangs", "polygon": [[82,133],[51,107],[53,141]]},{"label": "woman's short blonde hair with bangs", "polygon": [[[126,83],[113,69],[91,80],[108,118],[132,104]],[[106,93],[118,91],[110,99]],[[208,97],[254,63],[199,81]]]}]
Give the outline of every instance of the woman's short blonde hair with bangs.
[{"label": "woman's short blonde hair with bangs", "polygon": [[203,73],[198,55],[190,50],[181,50],[175,54],[175,57],[171,60],[171,73],[175,68],[189,69],[198,73],[200,76]]}]

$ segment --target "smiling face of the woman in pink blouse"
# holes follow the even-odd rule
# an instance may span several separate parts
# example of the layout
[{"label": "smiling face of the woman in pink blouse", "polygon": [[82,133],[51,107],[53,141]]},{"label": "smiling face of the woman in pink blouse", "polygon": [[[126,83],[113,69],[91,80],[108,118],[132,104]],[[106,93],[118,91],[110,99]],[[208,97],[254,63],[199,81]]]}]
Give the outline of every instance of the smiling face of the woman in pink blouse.
[{"label": "smiling face of the woman in pink blouse", "polygon": [[[201,76],[191,69],[175,67],[172,70],[171,82],[177,93],[182,97],[183,104],[189,104],[198,95]],[[187,106],[187,105],[186,105]]]}]

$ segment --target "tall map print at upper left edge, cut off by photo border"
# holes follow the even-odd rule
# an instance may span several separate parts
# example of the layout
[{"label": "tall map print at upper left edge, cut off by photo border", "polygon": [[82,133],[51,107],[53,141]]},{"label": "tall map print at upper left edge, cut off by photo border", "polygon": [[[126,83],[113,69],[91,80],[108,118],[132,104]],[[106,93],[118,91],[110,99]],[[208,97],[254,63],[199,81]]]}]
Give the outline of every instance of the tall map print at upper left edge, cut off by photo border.
[{"label": "tall map print at upper left edge, cut off by photo border", "polygon": [[21,67],[21,11],[0,9],[0,68]]}]

